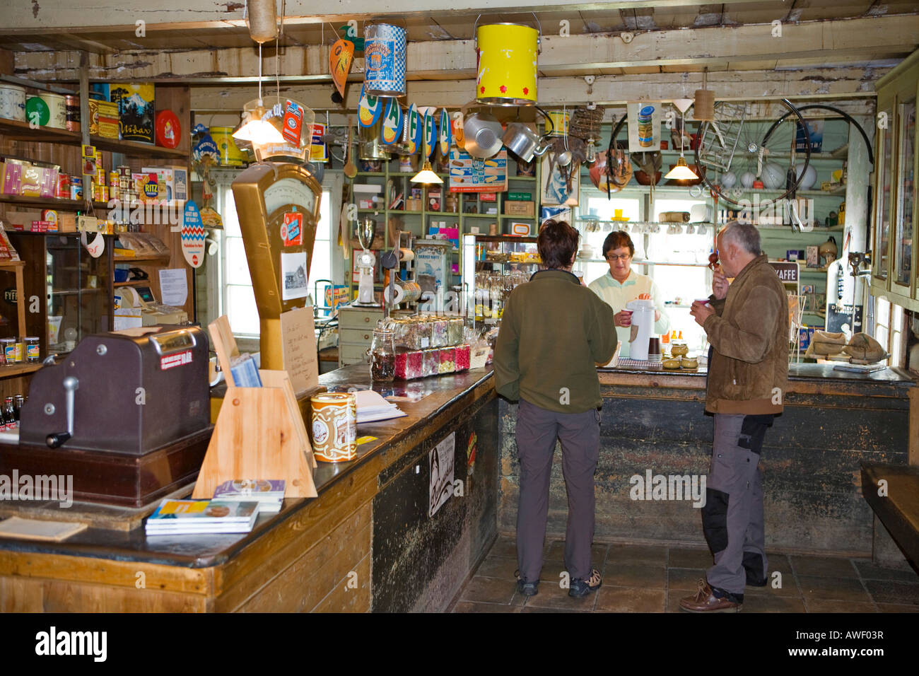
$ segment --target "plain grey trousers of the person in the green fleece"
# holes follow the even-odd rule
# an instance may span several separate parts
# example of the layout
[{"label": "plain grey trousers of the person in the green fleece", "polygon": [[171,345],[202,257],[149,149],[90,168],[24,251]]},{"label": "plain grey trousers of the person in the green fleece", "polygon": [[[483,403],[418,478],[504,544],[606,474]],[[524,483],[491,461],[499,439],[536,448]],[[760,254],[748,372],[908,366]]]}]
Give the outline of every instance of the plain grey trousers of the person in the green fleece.
[{"label": "plain grey trousers of the person in the green fleece", "polygon": [[562,441],[562,474],[568,492],[565,568],[571,579],[590,577],[600,412],[591,409],[584,413],[556,413],[521,399],[516,425],[520,456],[516,546],[520,576],[530,582],[539,580],[542,571],[556,438]]}]

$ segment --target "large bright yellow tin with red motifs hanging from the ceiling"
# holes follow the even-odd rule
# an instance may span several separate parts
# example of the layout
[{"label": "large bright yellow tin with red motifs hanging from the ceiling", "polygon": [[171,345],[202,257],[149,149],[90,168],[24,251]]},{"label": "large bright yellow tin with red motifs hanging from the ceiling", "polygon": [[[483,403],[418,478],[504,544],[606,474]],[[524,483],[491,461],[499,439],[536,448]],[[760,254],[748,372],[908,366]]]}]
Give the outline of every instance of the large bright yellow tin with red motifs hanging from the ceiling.
[{"label": "large bright yellow tin with red motifs hanging from the ceiling", "polygon": [[475,100],[494,106],[536,104],[539,30],[518,24],[480,26]]}]

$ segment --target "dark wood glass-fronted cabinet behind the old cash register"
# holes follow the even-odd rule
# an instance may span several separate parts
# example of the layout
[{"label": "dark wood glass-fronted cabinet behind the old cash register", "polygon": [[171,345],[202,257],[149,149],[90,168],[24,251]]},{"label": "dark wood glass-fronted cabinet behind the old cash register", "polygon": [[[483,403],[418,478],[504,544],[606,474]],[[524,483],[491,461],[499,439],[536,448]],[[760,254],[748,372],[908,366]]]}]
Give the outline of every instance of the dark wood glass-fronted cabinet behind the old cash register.
[{"label": "dark wood glass-fronted cabinet behind the old cash register", "polygon": [[92,258],[75,233],[45,236],[48,348],[42,356],[69,352],[85,336],[110,330],[107,254]]}]

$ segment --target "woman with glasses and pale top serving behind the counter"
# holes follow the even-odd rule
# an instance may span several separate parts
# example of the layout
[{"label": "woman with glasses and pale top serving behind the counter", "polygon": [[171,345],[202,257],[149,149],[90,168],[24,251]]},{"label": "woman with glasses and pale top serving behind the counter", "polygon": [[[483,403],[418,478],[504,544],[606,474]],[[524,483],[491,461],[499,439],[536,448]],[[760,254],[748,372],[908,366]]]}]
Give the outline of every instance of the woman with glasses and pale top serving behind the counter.
[{"label": "woman with glasses and pale top serving behind the counter", "polygon": [[609,263],[609,272],[588,286],[616,312],[616,335],[622,343],[620,357],[629,356],[631,312],[625,309],[629,301],[650,297],[654,302],[654,333],[670,330],[670,317],[661,309],[664,307],[661,290],[650,277],[631,269],[634,255],[635,245],[629,233],[619,230],[607,235],[603,242],[603,258]]}]

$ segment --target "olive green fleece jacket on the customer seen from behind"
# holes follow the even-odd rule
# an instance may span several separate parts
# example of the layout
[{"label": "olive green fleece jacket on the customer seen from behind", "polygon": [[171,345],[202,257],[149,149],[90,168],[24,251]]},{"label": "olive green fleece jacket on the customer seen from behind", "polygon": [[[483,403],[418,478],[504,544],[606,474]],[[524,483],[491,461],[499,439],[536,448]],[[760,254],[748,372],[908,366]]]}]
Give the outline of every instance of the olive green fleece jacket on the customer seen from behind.
[{"label": "olive green fleece jacket on the customer seen from behind", "polygon": [[499,395],[559,413],[602,404],[596,363],[616,351],[613,309],[564,270],[540,270],[505,305],[494,344]]}]

